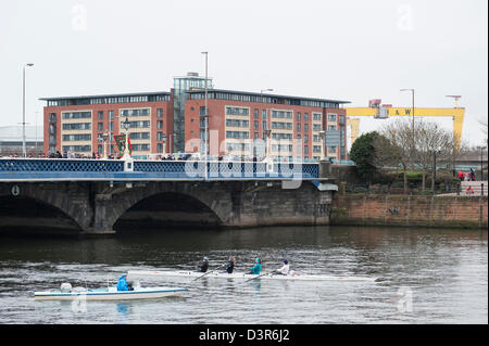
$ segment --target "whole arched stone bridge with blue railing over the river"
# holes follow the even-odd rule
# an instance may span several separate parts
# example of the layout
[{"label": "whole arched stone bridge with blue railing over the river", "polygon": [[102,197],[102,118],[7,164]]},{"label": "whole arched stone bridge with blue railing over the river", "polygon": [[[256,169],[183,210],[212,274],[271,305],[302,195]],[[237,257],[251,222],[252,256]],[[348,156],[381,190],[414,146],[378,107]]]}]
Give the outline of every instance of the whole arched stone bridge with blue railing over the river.
[{"label": "whole arched stone bridge with blue railing over the river", "polygon": [[2,231],[328,225],[330,164],[0,158]]}]

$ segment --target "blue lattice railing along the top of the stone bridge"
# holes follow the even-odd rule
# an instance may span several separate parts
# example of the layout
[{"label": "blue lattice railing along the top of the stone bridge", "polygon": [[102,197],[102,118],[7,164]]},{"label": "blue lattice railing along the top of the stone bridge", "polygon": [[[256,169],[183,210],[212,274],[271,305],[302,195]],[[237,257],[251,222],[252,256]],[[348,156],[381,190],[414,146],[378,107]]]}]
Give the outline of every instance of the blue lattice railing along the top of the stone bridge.
[{"label": "blue lattice railing along the top of the stone bridge", "polygon": [[[206,169],[205,169],[206,167]],[[206,171],[205,171],[206,170]],[[319,177],[317,164],[260,162],[0,158],[0,181],[15,180],[273,180]]]}]

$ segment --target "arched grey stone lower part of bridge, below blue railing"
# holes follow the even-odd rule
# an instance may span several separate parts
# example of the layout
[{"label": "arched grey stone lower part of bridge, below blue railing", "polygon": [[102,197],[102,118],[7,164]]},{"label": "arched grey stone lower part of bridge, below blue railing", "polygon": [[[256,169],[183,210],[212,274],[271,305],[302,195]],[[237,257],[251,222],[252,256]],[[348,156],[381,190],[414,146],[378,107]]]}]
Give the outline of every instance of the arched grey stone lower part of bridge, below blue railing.
[{"label": "arched grey stone lower part of bridge, below blue railing", "polygon": [[300,181],[0,183],[0,232],[328,225],[333,191]]}]

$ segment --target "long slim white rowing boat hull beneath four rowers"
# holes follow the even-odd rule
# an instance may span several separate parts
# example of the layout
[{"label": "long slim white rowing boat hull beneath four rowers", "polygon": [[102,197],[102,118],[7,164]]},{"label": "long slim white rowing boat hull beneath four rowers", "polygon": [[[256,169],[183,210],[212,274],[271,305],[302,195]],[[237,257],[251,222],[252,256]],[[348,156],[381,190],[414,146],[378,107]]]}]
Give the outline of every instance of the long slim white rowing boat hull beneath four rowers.
[{"label": "long slim white rowing boat hull beneath four rowers", "polygon": [[[128,278],[137,278],[137,277],[178,277],[178,278],[200,278],[202,277],[202,272],[198,271],[189,271],[189,270],[129,270],[127,272]],[[297,272],[292,272],[288,275],[283,274],[250,274],[244,272],[209,272],[205,278],[216,278],[216,279],[261,279],[261,280],[293,280],[293,281],[366,281],[374,282],[377,281],[377,278],[367,278],[367,277],[334,277],[334,275],[314,275],[314,274],[300,274]]]}]

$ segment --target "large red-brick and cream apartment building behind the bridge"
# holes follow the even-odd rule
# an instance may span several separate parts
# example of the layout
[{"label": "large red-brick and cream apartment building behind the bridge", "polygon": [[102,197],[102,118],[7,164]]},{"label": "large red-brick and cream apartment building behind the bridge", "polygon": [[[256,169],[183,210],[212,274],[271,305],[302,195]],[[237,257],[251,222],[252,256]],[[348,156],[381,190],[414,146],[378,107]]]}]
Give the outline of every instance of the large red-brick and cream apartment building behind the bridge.
[{"label": "large red-brick and cream apartment building behind the bridge", "polygon": [[321,157],[347,159],[346,110],[348,101],[214,89],[196,73],[174,78],[171,92],[43,98],[45,152],[102,154],[103,133],[111,133],[109,153],[115,153],[113,136],[128,130],[133,156],[204,151],[208,128],[211,155],[262,156],[269,129],[271,155],[280,159]]}]

